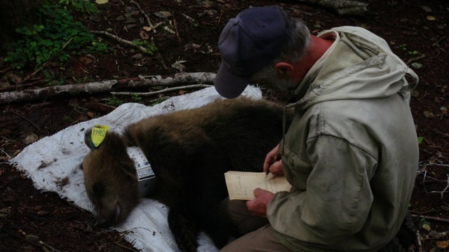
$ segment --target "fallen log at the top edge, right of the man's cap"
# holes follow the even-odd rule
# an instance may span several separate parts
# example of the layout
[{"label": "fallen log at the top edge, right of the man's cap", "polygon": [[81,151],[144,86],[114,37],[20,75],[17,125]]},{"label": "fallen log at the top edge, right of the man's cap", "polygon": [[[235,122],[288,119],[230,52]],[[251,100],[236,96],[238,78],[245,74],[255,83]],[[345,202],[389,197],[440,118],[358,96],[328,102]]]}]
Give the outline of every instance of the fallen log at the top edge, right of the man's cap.
[{"label": "fallen log at the top edge, right of the man's cap", "polygon": [[368,3],[362,3],[360,1],[351,0],[288,0],[286,2],[293,3],[310,3],[323,8],[330,8],[336,10],[338,15],[350,16],[350,15],[364,15],[366,13]]}]

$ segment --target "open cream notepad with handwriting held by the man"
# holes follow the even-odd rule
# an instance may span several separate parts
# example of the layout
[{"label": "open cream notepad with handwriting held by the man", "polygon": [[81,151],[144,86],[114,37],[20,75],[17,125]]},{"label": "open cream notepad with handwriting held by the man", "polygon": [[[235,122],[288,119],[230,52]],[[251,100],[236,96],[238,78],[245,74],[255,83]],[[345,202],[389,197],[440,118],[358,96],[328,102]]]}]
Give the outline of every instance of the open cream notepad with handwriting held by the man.
[{"label": "open cream notepad with handwriting held by the man", "polygon": [[261,188],[272,193],[289,191],[291,186],[284,176],[264,172],[227,172],[225,173],[229,200],[254,200],[253,190]]}]

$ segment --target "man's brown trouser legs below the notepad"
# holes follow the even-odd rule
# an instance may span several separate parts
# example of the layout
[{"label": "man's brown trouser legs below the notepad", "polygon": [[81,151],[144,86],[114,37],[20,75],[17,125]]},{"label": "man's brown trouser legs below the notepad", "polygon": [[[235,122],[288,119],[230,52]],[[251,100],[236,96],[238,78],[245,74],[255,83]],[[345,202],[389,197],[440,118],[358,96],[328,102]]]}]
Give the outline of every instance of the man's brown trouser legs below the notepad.
[{"label": "man's brown trouser legs below the notepad", "polygon": [[243,200],[225,200],[223,206],[229,214],[231,223],[229,229],[235,237],[239,237],[227,244],[221,251],[286,251],[286,246],[279,243],[267,218],[253,216],[246,208]]}]

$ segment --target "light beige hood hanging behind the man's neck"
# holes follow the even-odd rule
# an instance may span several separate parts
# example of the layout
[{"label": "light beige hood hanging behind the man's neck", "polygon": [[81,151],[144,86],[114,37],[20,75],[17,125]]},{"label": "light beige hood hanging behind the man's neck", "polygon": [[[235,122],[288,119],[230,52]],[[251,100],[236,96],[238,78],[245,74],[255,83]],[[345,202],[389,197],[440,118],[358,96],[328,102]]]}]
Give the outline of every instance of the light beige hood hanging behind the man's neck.
[{"label": "light beige hood hanging behind the man's neck", "polygon": [[[390,97],[410,99],[416,73],[391,52],[386,41],[361,27],[337,27],[319,34],[335,42],[312,66],[295,90],[305,93],[296,103],[307,109],[319,102]],[[344,59],[344,60],[341,60]],[[413,78],[408,83],[405,76]]]}]

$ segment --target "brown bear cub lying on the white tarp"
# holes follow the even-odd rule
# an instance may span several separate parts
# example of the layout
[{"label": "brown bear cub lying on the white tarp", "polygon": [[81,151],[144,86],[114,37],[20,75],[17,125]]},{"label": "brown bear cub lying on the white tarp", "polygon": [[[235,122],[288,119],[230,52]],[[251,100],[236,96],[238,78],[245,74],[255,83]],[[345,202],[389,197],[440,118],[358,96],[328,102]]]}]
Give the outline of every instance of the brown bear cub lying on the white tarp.
[{"label": "brown bear cub lying on the white tarp", "polygon": [[[290,123],[288,116],[287,122]],[[123,135],[108,132],[83,160],[89,199],[98,220],[119,224],[139,203],[138,178],[128,146],[142,148],[156,184],[150,198],[169,208],[168,225],[183,251],[196,251],[203,230],[222,248],[229,241],[224,173],[262,172],[264,158],[283,135],[283,106],[247,98],[216,101],[199,109],[145,118]]]}]

